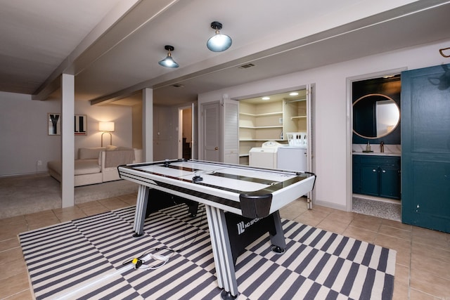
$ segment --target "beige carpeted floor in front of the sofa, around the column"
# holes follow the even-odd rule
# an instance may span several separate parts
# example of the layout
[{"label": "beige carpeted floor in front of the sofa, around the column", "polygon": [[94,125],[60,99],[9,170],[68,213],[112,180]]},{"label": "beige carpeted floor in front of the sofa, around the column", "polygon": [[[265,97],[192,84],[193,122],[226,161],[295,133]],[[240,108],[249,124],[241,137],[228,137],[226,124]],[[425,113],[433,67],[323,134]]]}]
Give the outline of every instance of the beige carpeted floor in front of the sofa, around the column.
[{"label": "beige carpeted floor in front of the sofa, around the column", "polygon": [[[75,204],[135,193],[131,181],[110,181],[75,188]],[[0,178],[0,219],[61,207],[60,183],[48,174]]]}]

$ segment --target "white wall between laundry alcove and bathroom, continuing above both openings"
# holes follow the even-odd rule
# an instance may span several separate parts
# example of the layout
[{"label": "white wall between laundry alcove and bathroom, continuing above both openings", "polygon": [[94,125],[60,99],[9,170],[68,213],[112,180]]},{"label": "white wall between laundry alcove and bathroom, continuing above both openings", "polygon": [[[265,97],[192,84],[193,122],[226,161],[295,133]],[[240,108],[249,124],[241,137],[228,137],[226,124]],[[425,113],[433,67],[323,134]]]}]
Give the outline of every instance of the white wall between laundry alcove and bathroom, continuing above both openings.
[{"label": "white wall between laundry alcove and bathroom, continuing above both openings", "polygon": [[347,93],[347,79],[377,72],[388,73],[400,68],[412,70],[450,63],[449,58],[439,54],[439,48],[446,48],[449,44],[450,40],[406,48],[203,93],[198,97],[198,105],[219,100],[224,94],[238,99],[316,84],[313,116],[316,142],[314,172],[317,175],[315,201],[327,207],[349,210],[351,207],[347,200],[352,195],[352,177],[348,176],[352,173],[352,126],[348,113],[350,95]]}]

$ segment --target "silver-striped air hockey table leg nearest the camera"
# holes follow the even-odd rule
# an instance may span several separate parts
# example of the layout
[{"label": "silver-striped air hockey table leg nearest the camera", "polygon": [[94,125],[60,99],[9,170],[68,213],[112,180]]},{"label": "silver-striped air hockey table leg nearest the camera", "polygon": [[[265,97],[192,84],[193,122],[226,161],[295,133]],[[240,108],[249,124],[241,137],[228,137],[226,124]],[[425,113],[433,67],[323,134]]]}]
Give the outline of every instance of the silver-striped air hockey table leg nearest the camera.
[{"label": "silver-striped air hockey table leg nearest the camera", "polygon": [[217,285],[223,291],[222,299],[236,299],[238,296],[238,282],[234,269],[231,245],[226,228],[225,214],[222,209],[205,205],[208,226],[212,244],[212,254],[214,256],[214,266],[216,267]]}]

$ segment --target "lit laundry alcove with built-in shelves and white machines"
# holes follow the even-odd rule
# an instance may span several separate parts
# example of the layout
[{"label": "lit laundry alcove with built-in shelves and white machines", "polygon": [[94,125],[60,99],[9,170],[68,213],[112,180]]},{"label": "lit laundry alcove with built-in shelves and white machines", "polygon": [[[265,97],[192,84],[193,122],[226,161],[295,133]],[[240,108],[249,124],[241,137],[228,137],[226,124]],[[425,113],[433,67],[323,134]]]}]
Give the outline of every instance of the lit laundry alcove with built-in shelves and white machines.
[{"label": "lit laundry alcove with built-in shelves and white machines", "polygon": [[307,89],[239,100],[239,163],[308,171]]}]

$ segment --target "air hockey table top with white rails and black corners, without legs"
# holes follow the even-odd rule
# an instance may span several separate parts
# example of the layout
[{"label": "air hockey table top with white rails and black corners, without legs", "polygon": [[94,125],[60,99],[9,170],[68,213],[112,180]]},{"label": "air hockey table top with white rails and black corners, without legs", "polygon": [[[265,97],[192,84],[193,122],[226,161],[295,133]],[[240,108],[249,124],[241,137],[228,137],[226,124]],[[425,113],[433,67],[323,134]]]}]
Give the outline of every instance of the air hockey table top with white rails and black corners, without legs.
[{"label": "air hockey table top with white rails and black corners, without legs", "polygon": [[[123,179],[255,218],[267,216],[308,193],[314,188],[316,178],[307,172],[191,159],[129,164],[118,169]],[[267,200],[269,197],[271,201]],[[245,200],[257,205],[259,210],[248,211],[240,203]],[[259,202],[264,200],[262,211]]]}]

